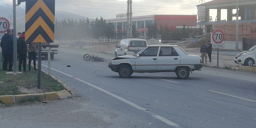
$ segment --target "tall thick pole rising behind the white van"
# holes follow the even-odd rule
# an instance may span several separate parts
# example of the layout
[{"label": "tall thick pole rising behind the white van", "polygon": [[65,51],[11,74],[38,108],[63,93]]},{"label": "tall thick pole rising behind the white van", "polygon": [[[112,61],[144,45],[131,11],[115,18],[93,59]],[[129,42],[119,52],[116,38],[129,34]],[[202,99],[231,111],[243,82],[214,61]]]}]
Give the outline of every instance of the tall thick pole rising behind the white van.
[{"label": "tall thick pole rising behind the white van", "polygon": [[127,38],[132,38],[132,0],[127,0]]}]

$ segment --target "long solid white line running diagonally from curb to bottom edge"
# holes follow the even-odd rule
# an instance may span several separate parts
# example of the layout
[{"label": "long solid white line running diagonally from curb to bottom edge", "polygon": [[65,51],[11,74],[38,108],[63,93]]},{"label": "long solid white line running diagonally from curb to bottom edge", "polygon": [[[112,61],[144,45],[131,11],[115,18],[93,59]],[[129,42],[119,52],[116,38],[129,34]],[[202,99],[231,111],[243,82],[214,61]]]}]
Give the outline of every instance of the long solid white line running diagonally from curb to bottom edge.
[{"label": "long solid white line running diagonally from curb to bottom edge", "polygon": [[[43,65],[43,64],[42,64],[42,66],[48,67],[48,66]],[[54,68],[51,68],[51,69],[54,70],[54,71],[56,71],[56,72],[65,74],[65,75],[67,75],[67,76],[69,76],[69,77],[71,77],[71,78],[74,78],[74,79],[78,80],[78,81],[81,81],[81,82],[83,82],[83,83],[85,83],[85,84],[87,84],[87,85],[89,85],[89,86],[91,86],[91,87],[93,87],[93,88],[96,88],[96,89],[98,89],[98,90],[100,90],[100,91],[102,91],[102,92],[104,92],[104,93],[106,93],[106,94],[109,94],[109,95],[111,95],[111,96],[113,96],[113,97],[115,97],[115,98],[117,98],[117,99],[119,99],[119,100],[121,100],[121,101],[123,101],[123,102],[125,102],[125,103],[127,103],[127,104],[129,104],[129,105],[131,105],[131,106],[134,106],[135,108],[137,108],[137,109],[139,109],[139,110],[142,110],[142,111],[144,111],[144,112],[146,112],[146,113],[149,113],[149,114],[151,114],[152,116],[154,116],[155,118],[157,118],[157,119],[159,119],[159,120],[165,122],[166,124],[168,124],[168,125],[170,125],[170,126],[174,126],[174,127],[176,127],[176,128],[183,128],[183,127],[181,127],[181,126],[175,124],[174,122],[172,122],[172,121],[170,121],[170,120],[167,120],[166,118],[163,118],[163,117],[160,116],[160,115],[154,114],[154,113],[148,111],[147,109],[145,109],[145,108],[143,108],[143,107],[141,107],[141,106],[139,106],[139,105],[137,105],[137,104],[134,104],[133,102],[130,102],[129,100],[124,99],[124,98],[122,98],[122,97],[120,97],[120,96],[118,96],[118,95],[115,95],[115,94],[113,94],[113,93],[111,93],[111,92],[109,92],[109,91],[107,91],[107,90],[104,90],[104,89],[102,89],[102,88],[99,88],[98,86],[95,86],[95,85],[93,85],[93,84],[91,84],[91,83],[89,83],[89,82],[86,82],[86,81],[84,81],[84,80],[81,80],[81,79],[79,79],[79,78],[77,78],[77,77],[74,77],[74,76],[72,76],[72,75],[70,75],[70,74],[67,74],[67,73],[65,73],[65,72],[56,70],[56,69],[54,69]]]}]

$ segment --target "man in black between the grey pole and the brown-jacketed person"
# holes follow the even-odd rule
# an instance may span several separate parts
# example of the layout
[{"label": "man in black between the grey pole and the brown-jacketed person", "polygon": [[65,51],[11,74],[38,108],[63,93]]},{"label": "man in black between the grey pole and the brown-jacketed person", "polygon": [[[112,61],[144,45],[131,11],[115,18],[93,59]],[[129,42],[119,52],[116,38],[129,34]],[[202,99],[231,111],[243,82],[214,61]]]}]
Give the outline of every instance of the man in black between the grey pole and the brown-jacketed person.
[{"label": "man in black between the grey pole and the brown-jacketed person", "polygon": [[17,39],[17,53],[19,55],[19,72],[21,72],[21,65],[23,63],[23,72],[26,72],[26,59],[27,59],[27,47],[25,42],[25,32]]}]

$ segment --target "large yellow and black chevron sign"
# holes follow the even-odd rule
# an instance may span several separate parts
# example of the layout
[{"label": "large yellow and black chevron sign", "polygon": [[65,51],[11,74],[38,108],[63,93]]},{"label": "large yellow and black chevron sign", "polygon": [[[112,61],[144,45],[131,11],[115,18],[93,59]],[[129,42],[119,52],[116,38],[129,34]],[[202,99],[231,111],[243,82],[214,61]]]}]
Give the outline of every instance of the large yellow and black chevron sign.
[{"label": "large yellow and black chevron sign", "polygon": [[55,0],[26,0],[26,42],[54,42]]}]

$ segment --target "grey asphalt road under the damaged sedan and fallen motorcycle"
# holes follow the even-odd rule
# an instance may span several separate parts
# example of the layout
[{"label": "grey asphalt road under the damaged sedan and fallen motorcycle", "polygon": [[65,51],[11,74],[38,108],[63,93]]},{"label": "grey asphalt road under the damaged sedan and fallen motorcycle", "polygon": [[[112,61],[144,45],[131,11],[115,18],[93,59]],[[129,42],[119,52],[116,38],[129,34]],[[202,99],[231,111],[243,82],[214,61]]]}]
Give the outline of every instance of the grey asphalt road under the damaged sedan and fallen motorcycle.
[{"label": "grey asphalt road under the damaged sedan and fallen motorcycle", "polygon": [[[51,73],[76,91],[73,99],[1,107],[1,128],[255,128],[256,74],[203,67],[189,79],[134,73],[122,79],[82,50],[59,48]],[[47,70],[47,61],[42,61]],[[71,67],[66,67],[71,65]],[[42,119],[43,118],[43,119]]]}]

